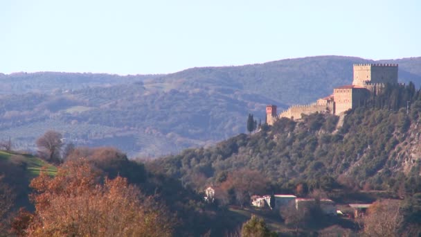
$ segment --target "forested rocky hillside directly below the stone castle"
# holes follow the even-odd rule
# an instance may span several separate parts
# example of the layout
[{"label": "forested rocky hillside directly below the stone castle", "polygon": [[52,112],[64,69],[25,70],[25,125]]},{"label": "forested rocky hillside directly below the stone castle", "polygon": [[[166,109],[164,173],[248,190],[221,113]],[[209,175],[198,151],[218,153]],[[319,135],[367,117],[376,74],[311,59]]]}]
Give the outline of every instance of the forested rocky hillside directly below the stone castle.
[{"label": "forested rocky hillside directly below the stone castle", "polygon": [[340,128],[338,117],[328,114],[311,114],[298,122],[283,118],[255,134],[185,150],[150,166],[197,189],[219,186],[227,175],[247,169],[258,171],[277,192],[292,192],[305,183],[328,191],[348,185],[400,195],[417,193],[421,191],[420,115],[420,91],[411,84],[388,86],[384,94],[348,112]]}]

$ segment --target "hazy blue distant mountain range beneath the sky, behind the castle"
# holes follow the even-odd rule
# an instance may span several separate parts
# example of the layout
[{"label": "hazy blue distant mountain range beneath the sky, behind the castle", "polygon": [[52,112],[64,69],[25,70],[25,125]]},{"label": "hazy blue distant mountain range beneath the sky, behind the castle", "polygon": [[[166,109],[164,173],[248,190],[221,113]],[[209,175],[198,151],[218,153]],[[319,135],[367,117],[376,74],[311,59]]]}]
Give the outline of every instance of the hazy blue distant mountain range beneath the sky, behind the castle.
[{"label": "hazy blue distant mountain range beneath the sky, behind the castle", "polygon": [[421,85],[421,58],[364,60],[319,56],[166,75],[0,74],[0,140],[35,149],[48,129],[79,146],[118,146],[156,157],[245,132],[265,105],[310,103],[352,81],[354,63],[398,63],[400,82]]}]

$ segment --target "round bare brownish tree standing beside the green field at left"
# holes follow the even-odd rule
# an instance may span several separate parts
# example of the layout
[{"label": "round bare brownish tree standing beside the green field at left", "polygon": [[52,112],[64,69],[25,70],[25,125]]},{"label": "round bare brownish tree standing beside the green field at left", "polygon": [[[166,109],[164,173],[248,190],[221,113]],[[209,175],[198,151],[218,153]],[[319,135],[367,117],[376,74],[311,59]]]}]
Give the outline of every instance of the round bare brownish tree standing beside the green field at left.
[{"label": "round bare brownish tree standing beside the green field at left", "polygon": [[47,161],[54,163],[60,163],[59,156],[62,146],[62,134],[53,130],[47,131],[42,137],[37,139],[37,147],[40,155]]}]

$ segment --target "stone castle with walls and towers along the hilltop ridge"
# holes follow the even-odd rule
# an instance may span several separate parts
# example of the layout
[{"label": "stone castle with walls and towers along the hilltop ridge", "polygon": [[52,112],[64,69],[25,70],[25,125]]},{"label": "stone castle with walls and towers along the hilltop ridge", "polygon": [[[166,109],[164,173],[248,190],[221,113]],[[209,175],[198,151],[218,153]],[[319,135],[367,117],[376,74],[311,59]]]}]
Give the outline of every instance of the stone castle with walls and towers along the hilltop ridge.
[{"label": "stone castle with walls and towers along the hilltop ridge", "polygon": [[333,94],[320,98],[309,105],[292,105],[287,110],[276,113],[276,105],[267,105],[266,123],[273,125],[277,119],[301,119],[302,114],[315,112],[342,114],[358,107],[371,93],[382,90],[384,85],[397,84],[397,64],[354,64],[352,85],[333,89]]}]

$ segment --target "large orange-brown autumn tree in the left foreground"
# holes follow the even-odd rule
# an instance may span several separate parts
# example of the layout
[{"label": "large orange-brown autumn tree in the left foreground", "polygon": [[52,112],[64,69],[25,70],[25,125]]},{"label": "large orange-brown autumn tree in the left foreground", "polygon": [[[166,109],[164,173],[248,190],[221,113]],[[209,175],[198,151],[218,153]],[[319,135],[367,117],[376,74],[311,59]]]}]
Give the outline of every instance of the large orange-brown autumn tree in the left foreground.
[{"label": "large orange-brown autumn tree in the left foreground", "polygon": [[67,161],[55,177],[41,173],[30,186],[35,213],[28,236],[171,236],[160,204],[127,179],[101,178],[86,159]]}]

